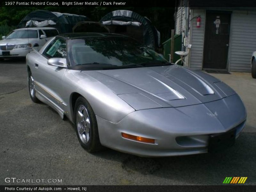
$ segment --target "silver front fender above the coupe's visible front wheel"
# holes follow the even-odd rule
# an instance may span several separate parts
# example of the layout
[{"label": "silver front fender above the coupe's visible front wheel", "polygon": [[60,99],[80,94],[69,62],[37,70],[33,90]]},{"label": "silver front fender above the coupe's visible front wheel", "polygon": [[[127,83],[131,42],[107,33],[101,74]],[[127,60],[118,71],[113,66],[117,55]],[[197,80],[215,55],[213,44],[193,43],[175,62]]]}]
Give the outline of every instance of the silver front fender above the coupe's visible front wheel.
[{"label": "silver front fender above the coupe's visible front wheel", "polygon": [[[63,96],[63,100],[68,103],[70,114],[73,114],[70,101],[70,96],[73,93],[82,95],[92,106],[95,115],[112,123],[119,122],[126,115],[135,111],[107,86],[80,71],[67,70],[63,77],[63,85],[68,93]],[[72,119],[71,115],[70,118]]]}]

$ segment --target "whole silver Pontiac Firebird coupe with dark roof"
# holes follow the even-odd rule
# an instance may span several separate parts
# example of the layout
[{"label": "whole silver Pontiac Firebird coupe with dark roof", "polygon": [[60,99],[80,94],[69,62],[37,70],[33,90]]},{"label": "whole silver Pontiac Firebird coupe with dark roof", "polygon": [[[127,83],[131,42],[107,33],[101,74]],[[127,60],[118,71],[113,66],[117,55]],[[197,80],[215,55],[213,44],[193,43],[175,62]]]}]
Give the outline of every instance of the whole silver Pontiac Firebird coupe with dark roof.
[{"label": "whole silver Pontiac Firebird coupe with dark roof", "polygon": [[246,109],[228,85],[167,62],[110,33],[62,34],[27,55],[34,102],[74,123],[80,144],[138,156],[177,156],[231,146]]}]

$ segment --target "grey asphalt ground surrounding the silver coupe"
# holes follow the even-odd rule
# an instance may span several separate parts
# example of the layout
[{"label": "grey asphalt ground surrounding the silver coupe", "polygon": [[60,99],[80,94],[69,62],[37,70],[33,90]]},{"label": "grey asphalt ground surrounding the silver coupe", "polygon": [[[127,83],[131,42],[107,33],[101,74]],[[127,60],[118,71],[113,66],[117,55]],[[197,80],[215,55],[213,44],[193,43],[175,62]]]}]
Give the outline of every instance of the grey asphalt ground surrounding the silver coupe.
[{"label": "grey asphalt ground surrounding the silver coupe", "polygon": [[[235,89],[247,108],[235,145],[215,154],[141,158],[111,149],[87,153],[68,120],[30,100],[25,60],[0,61],[0,185],[221,185],[225,177],[248,177],[244,185],[255,185],[256,79],[212,75]],[[6,183],[11,177],[30,183]]]}]

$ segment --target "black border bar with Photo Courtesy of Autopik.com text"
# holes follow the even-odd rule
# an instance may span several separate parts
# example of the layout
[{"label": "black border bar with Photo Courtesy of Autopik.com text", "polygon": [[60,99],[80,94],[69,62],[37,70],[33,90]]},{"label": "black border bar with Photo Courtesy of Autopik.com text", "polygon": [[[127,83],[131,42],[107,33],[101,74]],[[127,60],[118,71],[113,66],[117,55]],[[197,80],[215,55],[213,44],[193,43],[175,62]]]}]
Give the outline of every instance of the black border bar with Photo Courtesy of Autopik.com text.
[{"label": "black border bar with Photo Courtesy of Autopik.com text", "polygon": [[[7,190],[9,188],[9,190]],[[12,188],[12,190],[10,189]],[[32,188],[26,189],[26,188]],[[42,190],[39,190],[39,189]],[[207,186],[207,185],[202,185],[202,186],[189,186],[189,185],[184,185],[184,186],[149,186],[149,185],[140,185],[140,186],[123,186],[123,185],[109,185],[109,186],[104,186],[104,185],[1,185],[0,186],[0,191],[2,192],[10,192],[10,191],[19,191],[19,192],[27,192],[27,191],[32,191],[32,192],[84,192],[86,189],[86,192],[240,192],[240,191],[246,191],[246,192],[255,192],[255,186],[253,185],[241,185],[241,184],[223,184],[223,185],[216,185],[216,186]],[[24,189],[24,190],[20,190]],[[80,190],[79,190],[80,189]]]}]

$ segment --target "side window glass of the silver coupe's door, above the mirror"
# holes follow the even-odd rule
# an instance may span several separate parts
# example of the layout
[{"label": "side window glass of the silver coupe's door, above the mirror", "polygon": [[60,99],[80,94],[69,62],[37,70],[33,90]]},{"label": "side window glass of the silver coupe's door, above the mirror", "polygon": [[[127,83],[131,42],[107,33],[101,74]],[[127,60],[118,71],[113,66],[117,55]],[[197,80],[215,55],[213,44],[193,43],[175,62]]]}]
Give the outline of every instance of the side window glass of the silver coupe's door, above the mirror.
[{"label": "side window glass of the silver coupe's door, above the mirror", "polygon": [[43,55],[47,58],[66,58],[67,55],[66,41],[64,39],[54,39],[44,50]]}]

